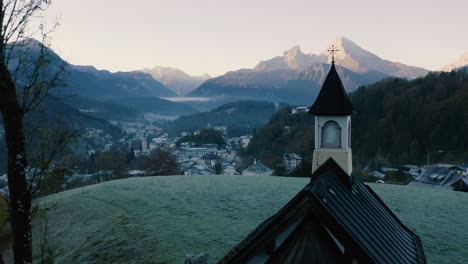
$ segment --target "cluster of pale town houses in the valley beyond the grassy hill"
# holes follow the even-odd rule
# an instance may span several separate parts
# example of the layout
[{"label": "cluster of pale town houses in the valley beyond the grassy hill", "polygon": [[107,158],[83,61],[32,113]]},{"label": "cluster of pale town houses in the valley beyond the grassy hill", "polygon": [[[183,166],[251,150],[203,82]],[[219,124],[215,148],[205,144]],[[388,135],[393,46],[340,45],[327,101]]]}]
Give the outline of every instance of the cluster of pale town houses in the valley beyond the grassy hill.
[{"label": "cluster of pale town houses in the valley beyond the grassy hill", "polygon": [[[300,111],[304,110],[300,109]],[[215,129],[225,132],[225,129],[222,128],[217,127]],[[247,148],[252,139],[250,135],[227,138],[225,146],[216,144],[199,146],[194,142],[183,142],[180,146],[176,146],[177,141],[188,135],[188,132],[181,133],[181,137],[169,137],[167,133],[159,133],[160,135],[157,137],[148,138],[148,134],[155,131],[152,129],[146,131],[145,127],[139,123],[125,123],[124,130],[134,136],[131,139],[122,139],[120,143],[128,145],[129,150],[136,157],[148,155],[154,149],[168,150],[175,155],[184,175],[212,175],[219,173],[219,170],[224,175],[239,175],[242,173],[243,175],[254,176],[272,175],[273,173],[273,169],[263,165],[260,161],[256,161],[255,164],[252,164],[243,172],[238,168],[241,161],[238,150]],[[302,162],[302,158],[295,153],[287,153],[283,159],[287,172],[294,171]],[[221,169],[219,166],[221,166]]]}]

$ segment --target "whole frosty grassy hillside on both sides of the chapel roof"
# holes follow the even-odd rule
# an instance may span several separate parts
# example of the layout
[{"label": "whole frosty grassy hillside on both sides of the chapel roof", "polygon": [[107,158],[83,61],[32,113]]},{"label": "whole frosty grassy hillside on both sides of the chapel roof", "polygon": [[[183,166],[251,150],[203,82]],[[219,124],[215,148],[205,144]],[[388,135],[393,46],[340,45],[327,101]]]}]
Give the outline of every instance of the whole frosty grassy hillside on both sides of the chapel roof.
[{"label": "whole frosty grassy hillside on both sides of the chapel roof", "polygon": [[[49,198],[57,263],[183,263],[206,252],[214,263],[308,183],[304,178],[146,177]],[[468,195],[371,185],[424,243],[429,263],[468,256]]]}]

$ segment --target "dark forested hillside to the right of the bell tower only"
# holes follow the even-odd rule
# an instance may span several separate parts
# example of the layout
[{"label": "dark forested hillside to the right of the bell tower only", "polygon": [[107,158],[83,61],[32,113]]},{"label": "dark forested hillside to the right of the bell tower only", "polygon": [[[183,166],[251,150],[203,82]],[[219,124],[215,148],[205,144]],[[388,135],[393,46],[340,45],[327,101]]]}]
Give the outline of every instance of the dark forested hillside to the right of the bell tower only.
[{"label": "dark forested hillside to the right of the bell tower only", "polygon": [[[468,161],[468,70],[388,79],[351,94],[358,163]],[[443,151],[443,152],[440,152]]]}]

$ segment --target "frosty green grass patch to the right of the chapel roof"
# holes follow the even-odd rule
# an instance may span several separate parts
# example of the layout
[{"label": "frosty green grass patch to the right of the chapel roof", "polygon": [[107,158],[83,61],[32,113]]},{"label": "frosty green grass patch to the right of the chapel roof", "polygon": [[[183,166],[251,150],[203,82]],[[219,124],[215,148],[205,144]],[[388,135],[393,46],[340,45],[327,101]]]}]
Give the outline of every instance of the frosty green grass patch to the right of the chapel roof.
[{"label": "frosty green grass patch to the right of the chapel roof", "polygon": [[429,263],[467,263],[468,193],[369,185],[421,238]]}]

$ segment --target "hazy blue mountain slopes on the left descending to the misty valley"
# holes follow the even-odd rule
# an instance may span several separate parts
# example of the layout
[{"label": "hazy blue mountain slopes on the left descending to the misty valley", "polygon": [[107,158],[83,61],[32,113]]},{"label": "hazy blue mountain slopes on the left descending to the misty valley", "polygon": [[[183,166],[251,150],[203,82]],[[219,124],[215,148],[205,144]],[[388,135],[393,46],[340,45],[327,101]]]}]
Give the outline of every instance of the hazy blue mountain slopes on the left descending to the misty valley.
[{"label": "hazy blue mountain slopes on the left descending to the misty valley", "polygon": [[[23,42],[27,43],[19,43],[13,52],[37,56],[40,49],[44,48],[34,39]],[[54,72],[60,65],[65,67],[61,78],[66,86],[55,89],[53,95],[64,99],[63,103],[79,109],[82,113],[107,120],[135,120],[146,112],[167,116],[197,112],[185,104],[160,98],[174,97],[176,94],[148,73],[112,73],[93,66],[72,65],[52,50],[46,48],[46,52],[51,64],[44,69],[45,71]],[[10,67],[14,65],[13,61]],[[53,106],[55,105],[52,104],[51,107]]]}]

